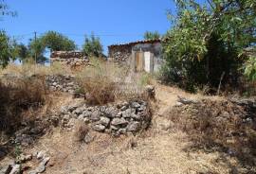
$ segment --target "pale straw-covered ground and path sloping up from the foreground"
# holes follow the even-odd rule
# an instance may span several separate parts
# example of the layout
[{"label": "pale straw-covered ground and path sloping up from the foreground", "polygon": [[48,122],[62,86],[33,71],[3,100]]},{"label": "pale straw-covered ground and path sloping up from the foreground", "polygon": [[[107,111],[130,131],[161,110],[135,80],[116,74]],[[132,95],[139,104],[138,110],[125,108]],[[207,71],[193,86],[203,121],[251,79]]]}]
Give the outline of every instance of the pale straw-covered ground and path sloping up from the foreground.
[{"label": "pale straw-covered ground and path sloping up from the foreground", "polygon": [[[181,95],[182,94],[182,95]],[[157,86],[156,95],[160,109],[173,106],[176,95],[183,94],[178,89]],[[194,96],[197,97],[197,96]],[[74,102],[72,98],[57,100],[56,109],[61,105]],[[221,108],[223,109],[223,108]],[[231,108],[232,109],[232,108]],[[230,110],[231,110],[230,109]],[[158,113],[158,112],[157,112]],[[181,114],[181,113],[180,113]],[[183,117],[183,115],[178,115]],[[183,114],[183,113],[182,113]],[[167,123],[169,114],[154,115],[155,124]],[[191,147],[190,134],[182,130],[161,130],[155,124],[152,128],[136,137],[121,136],[114,138],[107,133],[91,131],[94,138],[88,145],[74,143],[73,132],[55,128],[52,133],[40,138],[33,149],[27,153],[46,150],[50,155],[50,164],[46,167],[49,174],[57,173],[249,173],[236,158],[221,151],[206,152],[198,149],[186,151]],[[1,161],[1,163],[4,163]],[[253,172],[250,172],[253,173]]]}]

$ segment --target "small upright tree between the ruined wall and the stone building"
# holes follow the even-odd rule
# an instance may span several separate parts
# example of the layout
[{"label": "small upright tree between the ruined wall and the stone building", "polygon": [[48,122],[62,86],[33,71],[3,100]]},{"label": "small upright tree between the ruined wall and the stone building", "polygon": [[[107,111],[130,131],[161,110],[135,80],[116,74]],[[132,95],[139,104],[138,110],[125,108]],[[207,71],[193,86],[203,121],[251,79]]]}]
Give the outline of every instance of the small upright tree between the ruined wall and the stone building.
[{"label": "small upright tree between the ruined wall and the stone building", "polygon": [[85,36],[84,44],[82,45],[82,51],[85,55],[101,57],[103,54],[103,47],[99,37],[95,37],[91,34],[90,37]]}]

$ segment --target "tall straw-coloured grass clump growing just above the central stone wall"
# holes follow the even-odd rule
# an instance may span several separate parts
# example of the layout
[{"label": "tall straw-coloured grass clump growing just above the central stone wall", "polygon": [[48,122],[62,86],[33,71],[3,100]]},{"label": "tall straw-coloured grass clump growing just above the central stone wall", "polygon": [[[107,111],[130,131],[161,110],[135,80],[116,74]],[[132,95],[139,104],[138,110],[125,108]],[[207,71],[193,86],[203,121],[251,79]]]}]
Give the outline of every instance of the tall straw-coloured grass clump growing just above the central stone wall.
[{"label": "tall straw-coloured grass clump growing just above the central stone wall", "polygon": [[91,66],[77,74],[80,92],[86,94],[88,104],[106,104],[119,99],[139,97],[143,85],[139,77],[131,75],[127,68],[112,62],[91,59]]}]

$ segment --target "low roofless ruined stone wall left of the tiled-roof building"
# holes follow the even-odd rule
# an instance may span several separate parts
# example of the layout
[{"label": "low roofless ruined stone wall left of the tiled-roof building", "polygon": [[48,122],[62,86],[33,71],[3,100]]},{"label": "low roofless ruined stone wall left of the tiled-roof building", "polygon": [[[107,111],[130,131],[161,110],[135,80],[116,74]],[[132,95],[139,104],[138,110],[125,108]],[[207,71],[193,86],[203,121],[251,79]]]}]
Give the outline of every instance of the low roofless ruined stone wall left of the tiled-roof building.
[{"label": "low roofless ruined stone wall left of the tiled-roof building", "polygon": [[53,51],[50,61],[61,62],[68,66],[89,65],[88,58],[81,51]]}]

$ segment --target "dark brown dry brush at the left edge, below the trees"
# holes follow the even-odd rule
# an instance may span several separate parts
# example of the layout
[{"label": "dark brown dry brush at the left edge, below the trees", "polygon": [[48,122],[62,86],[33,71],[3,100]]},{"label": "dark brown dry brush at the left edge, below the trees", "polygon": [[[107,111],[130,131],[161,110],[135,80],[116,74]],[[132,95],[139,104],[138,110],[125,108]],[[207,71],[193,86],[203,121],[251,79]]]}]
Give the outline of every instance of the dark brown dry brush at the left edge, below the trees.
[{"label": "dark brown dry brush at the left edge, below the trees", "polygon": [[47,94],[45,80],[41,78],[16,78],[1,82],[0,91],[0,130],[11,132],[21,124],[22,113],[41,107]]}]

